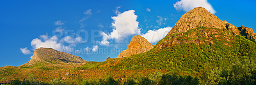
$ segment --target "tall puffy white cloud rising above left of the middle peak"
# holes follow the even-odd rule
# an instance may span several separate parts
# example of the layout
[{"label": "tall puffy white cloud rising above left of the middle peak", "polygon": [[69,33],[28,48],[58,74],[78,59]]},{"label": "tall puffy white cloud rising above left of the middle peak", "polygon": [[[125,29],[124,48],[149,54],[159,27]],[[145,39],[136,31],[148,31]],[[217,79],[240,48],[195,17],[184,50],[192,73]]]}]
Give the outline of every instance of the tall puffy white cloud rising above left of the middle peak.
[{"label": "tall puffy white cloud rising above left of the middle peak", "polygon": [[108,45],[108,39],[122,40],[126,36],[132,34],[140,34],[140,29],[138,28],[139,22],[136,21],[137,15],[135,15],[134,10],[124,11],[117,16],[113,16],[112,23],[113,31],[110,34],[104,32],[101,33],[102,45]]}]

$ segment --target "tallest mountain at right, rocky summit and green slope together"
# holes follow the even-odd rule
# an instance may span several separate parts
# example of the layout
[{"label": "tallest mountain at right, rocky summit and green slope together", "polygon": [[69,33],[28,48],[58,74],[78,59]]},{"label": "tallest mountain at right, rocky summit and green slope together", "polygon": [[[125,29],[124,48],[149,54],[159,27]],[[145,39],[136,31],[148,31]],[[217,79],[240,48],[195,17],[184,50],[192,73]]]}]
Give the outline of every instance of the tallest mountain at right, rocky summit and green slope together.
[{"label": "tallest mountain at right, rocky summit and green slope together", "polygon": [[[185,13],[168,35],[149,51],[127,58],[86,63],[78,69],[166,70],[168,74],[200,77],[204,84],[217,70],[218,75],[227,79],[225,81],[236,79],[230,79],[236,75],[241,75],[242,80],[248,72],[256,70],[254,35],[252,29],[237,28],[199,7]],[[124,53],[126,51],[120,55]]]}]

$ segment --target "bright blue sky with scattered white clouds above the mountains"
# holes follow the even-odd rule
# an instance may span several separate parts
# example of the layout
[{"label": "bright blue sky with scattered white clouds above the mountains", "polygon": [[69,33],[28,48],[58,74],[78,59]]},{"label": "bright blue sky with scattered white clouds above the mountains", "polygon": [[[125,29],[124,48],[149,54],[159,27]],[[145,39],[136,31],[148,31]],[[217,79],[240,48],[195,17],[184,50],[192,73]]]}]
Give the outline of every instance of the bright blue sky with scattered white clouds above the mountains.
[{"label": "bright blue sky with scattered white clouds above the mountains", "polygon": [[[116,58],[132,36],[156,44],[180,16],[199,5],[236,27],[256,30],[256,1],[191,1],[0,1],[0,67],[28,62],[40,46],[88,61]],[[158,36],[150,39],[154,33]]]}]

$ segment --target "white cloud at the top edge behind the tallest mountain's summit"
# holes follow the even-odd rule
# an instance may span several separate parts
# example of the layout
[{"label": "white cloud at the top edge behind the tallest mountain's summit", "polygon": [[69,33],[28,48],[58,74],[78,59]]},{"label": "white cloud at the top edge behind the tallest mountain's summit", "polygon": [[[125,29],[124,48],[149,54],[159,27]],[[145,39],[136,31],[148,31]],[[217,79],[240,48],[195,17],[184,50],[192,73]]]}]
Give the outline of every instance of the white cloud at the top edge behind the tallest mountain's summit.
[{"label": "white cloud at the top edge behind the tallest mountain's summit", "polygon": [[216,11],[212,8],[211,4],[207,0],[181,0],[173,4],[176,10],[189,11],[196,7],[204,7],[206,10],[210,11],[212,14]]}]

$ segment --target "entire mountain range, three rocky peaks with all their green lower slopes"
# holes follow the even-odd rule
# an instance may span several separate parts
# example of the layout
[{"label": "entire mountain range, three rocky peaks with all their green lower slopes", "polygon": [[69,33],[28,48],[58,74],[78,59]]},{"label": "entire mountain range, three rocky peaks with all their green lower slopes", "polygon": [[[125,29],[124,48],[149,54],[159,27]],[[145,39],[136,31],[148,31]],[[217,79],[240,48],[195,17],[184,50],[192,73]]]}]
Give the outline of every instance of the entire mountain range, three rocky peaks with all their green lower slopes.
[{"label": "entire mountain range, three rocky peaks with all their green lower slopes", "polygon": [[1,67],[0,82],[33,75],[66,84],[256,84],[255,36],[252,28],[235,27],[198,7],[182,15],[156,46],[134,36],[118,58],[104,62],[40,48],[24,66]]}]

